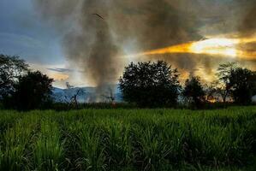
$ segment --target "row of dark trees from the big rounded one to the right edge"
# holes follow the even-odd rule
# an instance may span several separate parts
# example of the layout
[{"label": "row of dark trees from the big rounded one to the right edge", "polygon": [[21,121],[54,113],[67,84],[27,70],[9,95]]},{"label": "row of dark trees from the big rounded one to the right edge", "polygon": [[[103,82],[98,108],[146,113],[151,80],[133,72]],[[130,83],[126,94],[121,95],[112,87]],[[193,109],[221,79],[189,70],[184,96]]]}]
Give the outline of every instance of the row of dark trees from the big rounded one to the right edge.
[{"label": "row of dark trees from the big rounded one to the right edge", "polygon": [[119,81],[124,100],[143,107],[182,103],[198,109],[205,103],[252,103],[256,72],[228,62],[219,65],[216,75],[209,85],[203,85],[199,76],[190,76],[182,86],[177,68],[166,62],[132,62]]}]

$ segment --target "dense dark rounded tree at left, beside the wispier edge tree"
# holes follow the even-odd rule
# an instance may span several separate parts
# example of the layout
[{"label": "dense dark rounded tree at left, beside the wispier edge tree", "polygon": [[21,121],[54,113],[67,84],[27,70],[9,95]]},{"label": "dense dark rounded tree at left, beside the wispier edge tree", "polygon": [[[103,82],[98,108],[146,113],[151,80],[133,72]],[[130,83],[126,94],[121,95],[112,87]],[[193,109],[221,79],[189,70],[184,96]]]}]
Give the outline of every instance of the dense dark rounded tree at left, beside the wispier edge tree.
[{"label": "dense dark rounded tree at left, beside the wispier edge tree", "polygon": [[20,76],[10,97],[11,104],[21,110],[44,107],[51,101],[52,81],[39,71]]}]

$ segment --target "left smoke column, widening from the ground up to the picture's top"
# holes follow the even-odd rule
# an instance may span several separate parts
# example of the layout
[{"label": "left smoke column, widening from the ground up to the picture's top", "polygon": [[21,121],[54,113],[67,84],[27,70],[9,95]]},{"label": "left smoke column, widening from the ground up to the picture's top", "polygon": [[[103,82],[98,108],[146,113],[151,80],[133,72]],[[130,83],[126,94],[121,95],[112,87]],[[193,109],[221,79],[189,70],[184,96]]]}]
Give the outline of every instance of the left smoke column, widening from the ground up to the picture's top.
[{"label": "left smoke column, widening from the ground up to the picture's top", "polygon": [[116,84],[121,61],[108,24],[108,1],[36,0],[35,6],[60,32],[68,61],[84,71],[81,79],[97,85],[97,98]]}]

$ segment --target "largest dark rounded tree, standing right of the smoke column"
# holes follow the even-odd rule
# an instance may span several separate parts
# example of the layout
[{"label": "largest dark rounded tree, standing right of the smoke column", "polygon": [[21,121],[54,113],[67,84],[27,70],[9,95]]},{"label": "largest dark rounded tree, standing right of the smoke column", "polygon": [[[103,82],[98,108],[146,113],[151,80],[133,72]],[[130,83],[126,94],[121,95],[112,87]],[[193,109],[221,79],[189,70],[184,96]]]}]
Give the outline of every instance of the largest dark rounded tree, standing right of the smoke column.
[{"label": "largest dark rounded tree, standing right of the smoke column", "polygon": [[119,80],[123,99],[140,106],[175,105],[180,90],[177,69],[166,62],[131,62]]}]

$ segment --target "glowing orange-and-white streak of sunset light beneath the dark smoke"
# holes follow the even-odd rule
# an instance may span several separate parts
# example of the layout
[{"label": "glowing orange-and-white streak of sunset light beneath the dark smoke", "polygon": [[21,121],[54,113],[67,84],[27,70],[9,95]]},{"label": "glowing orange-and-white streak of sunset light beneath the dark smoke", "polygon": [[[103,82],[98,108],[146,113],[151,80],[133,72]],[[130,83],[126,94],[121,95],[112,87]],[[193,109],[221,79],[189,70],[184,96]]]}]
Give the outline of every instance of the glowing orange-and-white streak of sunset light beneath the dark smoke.
[{"label": "glowing orange-and-white streak of sunset light beneath the dark smoke", "polygon": [[256,59],[256,51],[239,50],[239,44],[256,42],[256,38],[207,38],[186,44],[173,45],[157,50],[149,50],[133,56],[152,56],[171,53],[204,54],[211,56],[223,56],[242,58],[247,60]]}]

